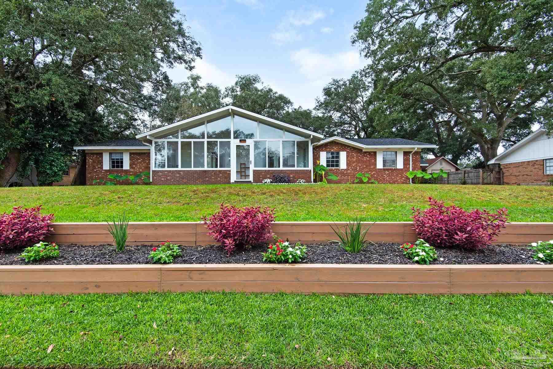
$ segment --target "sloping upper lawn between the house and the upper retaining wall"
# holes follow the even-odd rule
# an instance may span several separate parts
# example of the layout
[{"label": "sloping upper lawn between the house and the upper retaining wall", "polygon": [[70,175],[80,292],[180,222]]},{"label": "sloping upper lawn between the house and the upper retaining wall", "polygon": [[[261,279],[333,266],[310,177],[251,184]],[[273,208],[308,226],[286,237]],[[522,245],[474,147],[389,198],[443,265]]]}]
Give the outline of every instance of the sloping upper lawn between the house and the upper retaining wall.
[{"label": "sloping upper lawn between the house and the upper retaining wall", "polygon": [[224,202],[275,208],[281,221],[409,221],[429,196],[465,209],[506,207],[511,222],[553,222],[553,187],[428,184],[85,186],[0,188],[0,212],[44,205],[56,222],[102,222],[113,214],[134,221],[197,221]]}]

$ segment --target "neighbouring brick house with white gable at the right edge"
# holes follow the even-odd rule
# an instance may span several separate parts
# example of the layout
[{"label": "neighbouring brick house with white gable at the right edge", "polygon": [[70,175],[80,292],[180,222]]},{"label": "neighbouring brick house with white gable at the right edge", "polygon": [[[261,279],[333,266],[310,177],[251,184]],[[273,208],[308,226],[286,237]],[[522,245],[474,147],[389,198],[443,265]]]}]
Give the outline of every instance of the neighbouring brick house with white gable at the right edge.
[{"label": "neighbouring brick house with white gable at the right edge", "polygon": [[553,180],[553,138],[538,129],[488,164],[500,164],[504,184],[550,184]]}]

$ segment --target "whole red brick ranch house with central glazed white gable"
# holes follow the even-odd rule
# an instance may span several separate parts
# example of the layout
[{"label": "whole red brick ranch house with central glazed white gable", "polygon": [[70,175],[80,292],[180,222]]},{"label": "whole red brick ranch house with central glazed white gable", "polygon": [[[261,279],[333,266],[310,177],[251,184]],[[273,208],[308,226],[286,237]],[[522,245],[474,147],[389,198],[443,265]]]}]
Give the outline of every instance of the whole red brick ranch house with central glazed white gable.
[{"label": "whole red brick ranch house with central glazed white gable", "polygon": [[86,153],[86,184],[108,174],[150,172],[153,184],[260,183],[285,173],[313,181],[317,162],[353,182],[368,172],[379,183],[409,183],[420,151],[435,145],[405,139],[324,139],[318,133],[227,106],[136,136],[76,146]]}]

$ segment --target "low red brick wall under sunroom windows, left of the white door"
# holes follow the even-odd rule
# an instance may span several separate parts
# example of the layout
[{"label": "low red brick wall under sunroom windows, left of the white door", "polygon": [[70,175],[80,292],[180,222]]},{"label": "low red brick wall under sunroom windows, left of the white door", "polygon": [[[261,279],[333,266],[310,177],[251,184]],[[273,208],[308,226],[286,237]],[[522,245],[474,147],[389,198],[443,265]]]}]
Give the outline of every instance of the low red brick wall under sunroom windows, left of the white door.
[{"label": "low red brick wall under sunroom windows, left of the white door", "polygon": [[154,170],[153,184],[231,183],[231,170]]}]

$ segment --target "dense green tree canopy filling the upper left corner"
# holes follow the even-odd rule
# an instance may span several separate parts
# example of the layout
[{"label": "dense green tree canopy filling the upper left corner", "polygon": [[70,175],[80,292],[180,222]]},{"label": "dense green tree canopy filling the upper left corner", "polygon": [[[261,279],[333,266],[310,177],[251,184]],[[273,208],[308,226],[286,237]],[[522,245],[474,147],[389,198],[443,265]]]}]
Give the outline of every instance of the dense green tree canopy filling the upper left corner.
[{"label": "dense green tree canopy filling the upper left corner", "polygon": [[170,86],[163,68],[201,56],[168,0],[3,1],[0,35],[0,185],[29,165],[40,176],[45,156],[132,133]]}]

